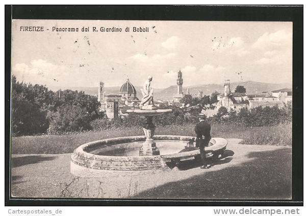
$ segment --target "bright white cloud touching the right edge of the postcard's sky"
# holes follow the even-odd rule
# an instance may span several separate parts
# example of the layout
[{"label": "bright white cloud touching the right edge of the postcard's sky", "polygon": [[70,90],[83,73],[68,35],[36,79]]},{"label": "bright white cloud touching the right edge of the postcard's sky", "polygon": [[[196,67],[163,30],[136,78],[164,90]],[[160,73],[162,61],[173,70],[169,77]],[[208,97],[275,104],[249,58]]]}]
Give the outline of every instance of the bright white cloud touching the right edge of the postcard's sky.
[{"label": "bright white cloud touching the right edge of the postcard's sky", "polygon": [[275,33],[264,33],[252,45],[254,49],[267,49],[271,47],[281,47],[292,45],[292,33],[285,30],[279,30]]}]

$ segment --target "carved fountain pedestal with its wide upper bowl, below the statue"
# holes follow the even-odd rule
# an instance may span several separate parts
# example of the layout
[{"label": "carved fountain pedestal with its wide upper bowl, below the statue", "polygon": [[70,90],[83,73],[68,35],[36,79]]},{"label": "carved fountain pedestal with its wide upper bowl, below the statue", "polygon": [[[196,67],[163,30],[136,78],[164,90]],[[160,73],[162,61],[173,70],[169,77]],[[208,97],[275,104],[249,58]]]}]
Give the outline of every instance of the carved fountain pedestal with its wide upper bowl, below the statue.
[{"label": "carved fountain pedestal with its wide upper bowl, below the statue", "polygon": [[143,132],[145,135],[145,142],[139,151],[139,156],[150,156],[150,155],[160,155],[160,151],[156,146],[155,141],[153,140],[153,135],[155,133],[155,125],[153,124],[153,116],[161,115],[166,112],[171,112],[172,109],[136,109],[136,110],[127,110],[128,113],[135,113],[142,115],[146,118],[146,122],[143,125]]}]

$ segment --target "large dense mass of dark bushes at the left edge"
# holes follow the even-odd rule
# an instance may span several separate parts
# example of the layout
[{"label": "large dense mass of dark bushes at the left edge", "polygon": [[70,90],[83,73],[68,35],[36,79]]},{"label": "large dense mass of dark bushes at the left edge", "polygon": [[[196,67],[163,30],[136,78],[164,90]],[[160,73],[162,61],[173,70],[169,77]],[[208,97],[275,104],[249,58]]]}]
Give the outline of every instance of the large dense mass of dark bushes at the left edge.
[{"label": "large dense mass of dark bushes at the left edge", "polygon": [[84,92],[53,92],[43,85],[25,84],[12,76],[12,133],[29,135],[90,130],[99,117],[97,98]]}]

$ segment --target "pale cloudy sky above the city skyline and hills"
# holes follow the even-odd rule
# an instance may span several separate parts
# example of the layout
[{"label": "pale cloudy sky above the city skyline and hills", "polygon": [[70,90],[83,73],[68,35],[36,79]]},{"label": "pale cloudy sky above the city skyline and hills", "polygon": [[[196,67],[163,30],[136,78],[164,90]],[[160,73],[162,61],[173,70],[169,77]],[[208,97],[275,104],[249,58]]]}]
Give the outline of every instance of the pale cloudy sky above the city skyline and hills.
[{"label": "pale cloudy sky above the city skyline and hills", "polygon": [[[23,31],[29,26],[44,31]],[[89,31],[82,32],[83,27]],[[112,27],[122,31],[106,32]],[[148,31],[133,32],[133,27]],[[292,83],[292,22],[15,19],[12,23],[12,74],[20,82],[57,90],[95,87],[99,82],[121,86],[128,77],[141,86],[151,75],[155,89],[176,85],[180,69],[183,86],[222,84],[224,79]]]}]

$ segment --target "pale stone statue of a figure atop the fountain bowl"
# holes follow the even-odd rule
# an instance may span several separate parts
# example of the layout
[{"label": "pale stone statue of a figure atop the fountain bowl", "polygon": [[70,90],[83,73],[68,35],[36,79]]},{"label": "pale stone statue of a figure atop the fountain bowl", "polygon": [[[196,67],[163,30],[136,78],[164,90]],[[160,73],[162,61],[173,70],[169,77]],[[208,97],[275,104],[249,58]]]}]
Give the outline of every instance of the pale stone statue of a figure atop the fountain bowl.
[{"label": "pale stone statue of a figure atop the fountain bowl", "polygon": [[153,79],[152,76],[148,76],[147,80],[144,82],[143,89],[141,89],[143,98],[141,99],[139,105],[140,109],[145,109],[145,110],[157,109],[157,107],[154,105],[153,89],[150,88],[152,79]]}]

